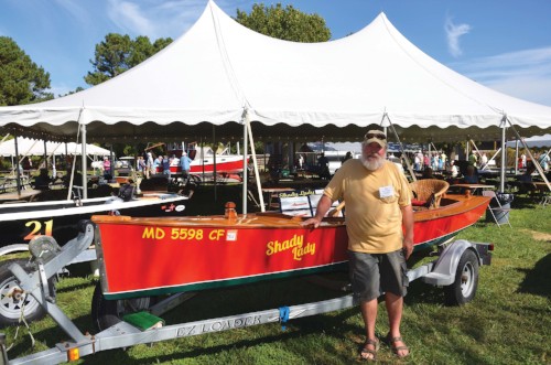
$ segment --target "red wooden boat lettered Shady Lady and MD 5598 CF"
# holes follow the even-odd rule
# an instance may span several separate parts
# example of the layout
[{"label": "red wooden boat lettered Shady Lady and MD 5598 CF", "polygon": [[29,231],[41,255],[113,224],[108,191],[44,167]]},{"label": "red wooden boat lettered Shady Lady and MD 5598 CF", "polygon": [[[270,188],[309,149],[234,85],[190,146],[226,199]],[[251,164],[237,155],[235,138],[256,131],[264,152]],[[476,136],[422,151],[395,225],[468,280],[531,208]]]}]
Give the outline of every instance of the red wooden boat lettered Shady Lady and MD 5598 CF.
[{"label": "red wooden boat lettered Shady Lady and MD 5598 CF", "polygon": [[[444,243],[485,213],[489,198],[447,195],[414,212],[414,249]],[[347,261],[345,219],[317,229],[281,213],[136,218],[94,216],[106,299],[225,287],[334,270]],[[125,237],[125,239],[121,239]]]}]

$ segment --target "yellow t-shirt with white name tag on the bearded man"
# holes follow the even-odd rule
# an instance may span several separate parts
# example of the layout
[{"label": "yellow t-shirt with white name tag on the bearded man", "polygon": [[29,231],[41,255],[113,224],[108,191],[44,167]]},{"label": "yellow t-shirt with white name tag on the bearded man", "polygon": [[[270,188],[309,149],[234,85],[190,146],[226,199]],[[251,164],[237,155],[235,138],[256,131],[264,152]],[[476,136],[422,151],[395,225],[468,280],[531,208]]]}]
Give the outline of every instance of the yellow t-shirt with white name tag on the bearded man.
[{"label": "yellow t-shirt with white name tag on the bearded man", "polygon": [[411,205],[408,180],[389,161],[375,171],[360,160],[346,161],[324,190],[332,201],[346,202],[348,249],[386,254],[402,247],[402,213]]}]

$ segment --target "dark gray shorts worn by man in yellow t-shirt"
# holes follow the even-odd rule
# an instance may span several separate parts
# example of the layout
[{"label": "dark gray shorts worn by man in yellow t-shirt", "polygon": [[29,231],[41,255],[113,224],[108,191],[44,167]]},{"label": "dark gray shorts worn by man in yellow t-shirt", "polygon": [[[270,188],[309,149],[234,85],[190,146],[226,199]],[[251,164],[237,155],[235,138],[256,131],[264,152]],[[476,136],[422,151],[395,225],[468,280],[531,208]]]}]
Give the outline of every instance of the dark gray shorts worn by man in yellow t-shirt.
[{"label": "dark gray shorts worn by man in yellow t-shirt", "polygon": [[354,297],[370,301],[383,292],[406,297],[408,267],[401,249],[388,254],[348,251],[349,275]]}]

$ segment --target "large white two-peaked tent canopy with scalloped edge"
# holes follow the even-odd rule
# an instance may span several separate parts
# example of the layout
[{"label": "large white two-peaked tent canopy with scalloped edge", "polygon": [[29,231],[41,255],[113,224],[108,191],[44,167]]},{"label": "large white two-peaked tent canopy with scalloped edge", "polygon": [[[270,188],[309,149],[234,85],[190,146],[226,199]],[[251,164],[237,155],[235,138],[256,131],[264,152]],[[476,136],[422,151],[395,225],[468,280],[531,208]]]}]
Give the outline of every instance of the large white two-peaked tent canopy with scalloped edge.
[{"label": "large white two-peaked tent canopy with scalloped edge", "polygon": [[[163,51],[89,89],[0,108],[0,131],[87,141],[241,139],[360,140],[390,121],[402,141],[500,138],[551,130],[551,107],[468,79],[410,43],[381,13],[341,40],[295,43],[256,33],[209,1]],[[61,128],[60,128],[61,127]],[[291,127],[291,128],[289,128]]]}]

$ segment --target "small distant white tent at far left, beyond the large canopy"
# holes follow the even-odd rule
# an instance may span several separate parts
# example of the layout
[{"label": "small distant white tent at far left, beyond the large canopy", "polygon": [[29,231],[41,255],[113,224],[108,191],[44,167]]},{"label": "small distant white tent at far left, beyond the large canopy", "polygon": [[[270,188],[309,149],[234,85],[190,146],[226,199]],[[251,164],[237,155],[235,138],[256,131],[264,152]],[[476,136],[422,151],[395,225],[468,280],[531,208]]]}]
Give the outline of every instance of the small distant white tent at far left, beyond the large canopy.
[{"label": "small distant white tent at far left, beyond the large canopy", "polygon": [[[79,155],[83,150],[80,143],[69,142],[46,142],[47,155],[61,155],[61,154],[76,154]],[[20,155],[43,155],[44,154],[44,141],[34,140],[26,138],[18,138],[18,152]],[[110,151],[95,144],[86,146],[86,153],[88,155],[109,155]],[[15,155],[15,139],[11,139],[0,143],[0,155]]]}]

